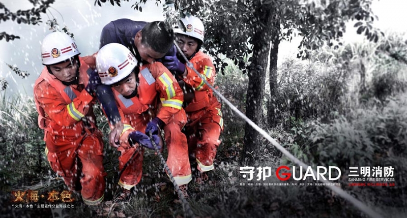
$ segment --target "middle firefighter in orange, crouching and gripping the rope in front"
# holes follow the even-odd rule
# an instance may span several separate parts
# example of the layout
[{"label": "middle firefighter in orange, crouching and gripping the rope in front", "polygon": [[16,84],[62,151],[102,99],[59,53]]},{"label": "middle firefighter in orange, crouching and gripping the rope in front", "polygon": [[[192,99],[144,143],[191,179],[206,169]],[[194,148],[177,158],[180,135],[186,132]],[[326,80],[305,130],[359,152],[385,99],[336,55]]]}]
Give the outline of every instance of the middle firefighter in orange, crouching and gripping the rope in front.
[{"label": "middle firefighter in orange, crouching and gripping the rope in front", "polygon": [[[141,178],[143,148],[128,141],[136,141],[145,136],[136,132],[153,134],[156,144],[160,142],[160,129],[168,148],[167,165],[185,197],[188,197],[187,184],[191,180],[188,160],[188,145],[181,132],[186,123],[182,108],[183,92],[176,79],[161,63],[153,62],[137,66],[137,60],[128,48],[119,43],[103,46],[96,57],[96,67],[102,84],[110,85],[119,112],[124,114],[124,130],[120,136],[121,151],[119,169],[138,152],[134,162],[127,167],[119,181],[124,196]],[[159,101],[158,101],[159,99]],[[151,120],[151,121],[150,121]],[[139,143],[140,144],[140,143]],[[142,144],[142,143],[141,143]],[[144,147],[153,148],[151,144]]]}]

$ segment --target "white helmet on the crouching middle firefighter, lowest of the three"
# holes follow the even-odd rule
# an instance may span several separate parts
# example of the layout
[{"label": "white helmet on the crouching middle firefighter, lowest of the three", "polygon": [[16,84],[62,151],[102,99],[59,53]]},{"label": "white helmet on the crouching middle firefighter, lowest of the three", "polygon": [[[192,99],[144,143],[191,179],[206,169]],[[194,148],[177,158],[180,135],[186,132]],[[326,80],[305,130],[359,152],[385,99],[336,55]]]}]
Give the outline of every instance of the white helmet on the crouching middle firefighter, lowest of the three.
[{"label": "white helmet on the crouching middle firefighter, lowest of the three", "polygon": [[105,85],[117,83],[126,78],[137,66],[137,60],[126,46],[109,43],[99,49],[96,69]]}]

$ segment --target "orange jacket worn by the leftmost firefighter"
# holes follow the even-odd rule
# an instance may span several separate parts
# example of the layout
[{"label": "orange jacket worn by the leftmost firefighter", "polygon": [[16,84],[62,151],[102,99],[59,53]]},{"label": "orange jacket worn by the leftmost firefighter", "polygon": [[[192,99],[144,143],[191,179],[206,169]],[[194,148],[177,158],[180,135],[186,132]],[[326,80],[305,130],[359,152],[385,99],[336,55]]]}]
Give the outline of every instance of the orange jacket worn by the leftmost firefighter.
[{"label": "orange jacket worn by the leftmost firefighter", "polygon": [[53,135],[75,136],[84,128],[82,120],[89,116],[96,120],[92,110],[94,97],[84,89],[89,81],[86,71],[90,68],[81,57],[79,60],[79,85],[62,84],[46,67],[35,82],[38,126]]}]

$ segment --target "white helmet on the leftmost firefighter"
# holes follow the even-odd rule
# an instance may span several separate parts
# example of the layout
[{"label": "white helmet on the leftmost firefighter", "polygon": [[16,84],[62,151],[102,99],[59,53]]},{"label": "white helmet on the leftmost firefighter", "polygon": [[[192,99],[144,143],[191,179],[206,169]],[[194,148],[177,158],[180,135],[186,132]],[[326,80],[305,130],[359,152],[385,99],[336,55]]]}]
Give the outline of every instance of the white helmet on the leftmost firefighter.
[{"label": "white helmet on the leftmost firefighter", "polygon": [[45,36],[41,44],[43,65],[53,65],[80,54],[78,46],[68,35],[53,32]]}]

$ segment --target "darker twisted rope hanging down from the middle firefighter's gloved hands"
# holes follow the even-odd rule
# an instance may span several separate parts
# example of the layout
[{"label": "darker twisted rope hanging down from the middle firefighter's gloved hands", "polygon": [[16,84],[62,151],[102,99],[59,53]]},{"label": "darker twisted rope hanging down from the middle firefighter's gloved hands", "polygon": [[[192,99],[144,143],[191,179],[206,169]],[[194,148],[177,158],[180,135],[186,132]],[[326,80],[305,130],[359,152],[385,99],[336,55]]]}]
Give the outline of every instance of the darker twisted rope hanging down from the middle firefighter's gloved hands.
[{"label": "darker twisted rope hanging down from the middle firefighter's gloved hands", "polygon": [[178,186],[177,181],[172,176],[171,170],[169,170],[169,167],[168,167],[166,161],[162,157],[160,149],[158,149],[156,143],[154,142],[153,133],[150,131],[149,134],[150,134],[150,141],[153,144],[154,149],[157,152],[158,156],[160,157],[161,164],[164,166],[164,169],[167,172],[167,174],[169,176],[169,179],[171,179],[172,184],[174,185],[175,190],[177,191],[178,196],[180,197],[180,200],[182,202],[182,206],[184,207],[185,217],[192,217],[192,218],[195,217],[194,212],[191,209],[191,206],[189,205],[189,203],[188,203],[187,199],[185,198],[184,194],[182,194],[182,191],[181,191],[180,187]]}]

